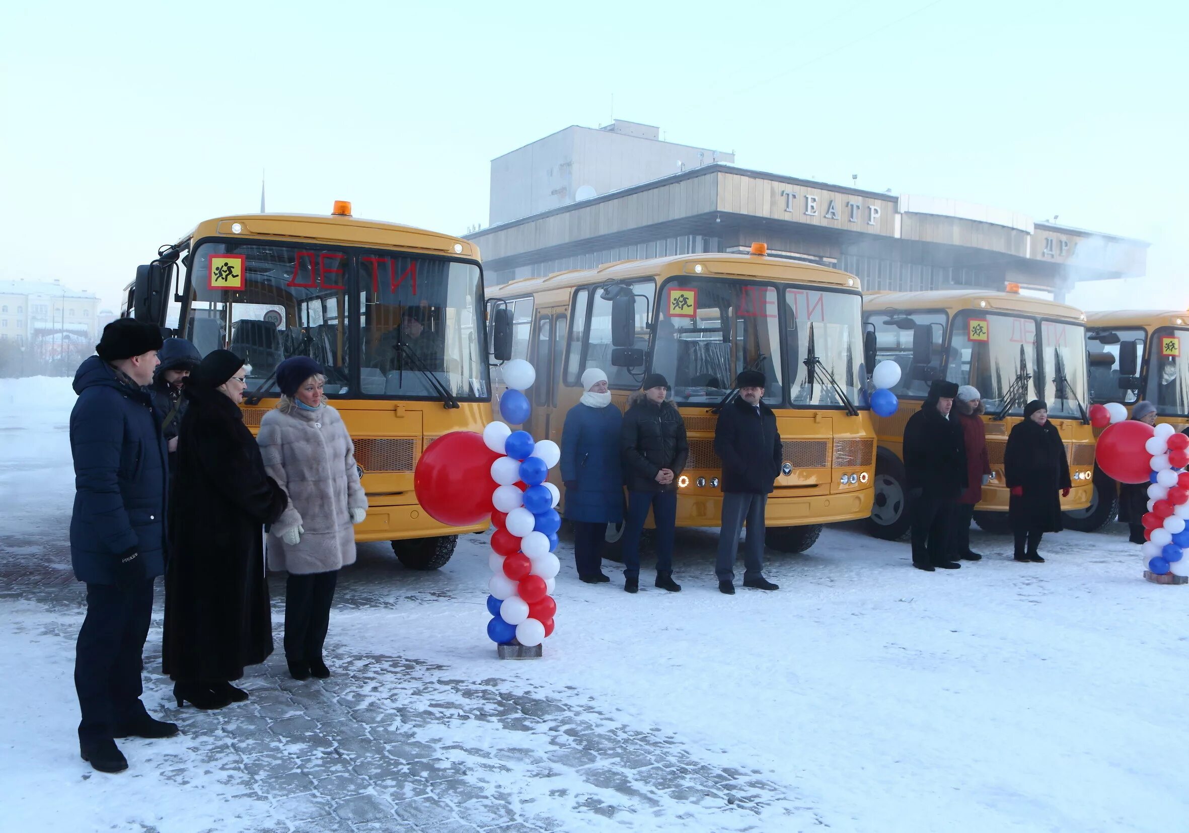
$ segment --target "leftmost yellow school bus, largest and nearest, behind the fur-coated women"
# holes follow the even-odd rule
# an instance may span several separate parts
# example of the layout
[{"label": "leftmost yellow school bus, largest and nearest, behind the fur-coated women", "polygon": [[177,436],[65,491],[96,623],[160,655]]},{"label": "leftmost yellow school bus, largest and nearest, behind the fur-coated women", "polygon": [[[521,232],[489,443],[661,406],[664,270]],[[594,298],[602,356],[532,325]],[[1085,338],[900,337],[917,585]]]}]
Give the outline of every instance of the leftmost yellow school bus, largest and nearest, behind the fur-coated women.
[{"label": "leftmost yellow school bus, largest and nearest, behind the fur-coated women", "polygon": [[228,348],[251,365],[243,406],[254,431],[276,404],[277,365],[323,367],[326,395],[356,443],[367,493],[359,541],[391,541],[403,564],[436,569],[460,532],[417,504],[413,471],[448,431],[490,419],[483,269],[474,244],[333,214],[243,214],[200,222],[137,270],[126,314]]}]

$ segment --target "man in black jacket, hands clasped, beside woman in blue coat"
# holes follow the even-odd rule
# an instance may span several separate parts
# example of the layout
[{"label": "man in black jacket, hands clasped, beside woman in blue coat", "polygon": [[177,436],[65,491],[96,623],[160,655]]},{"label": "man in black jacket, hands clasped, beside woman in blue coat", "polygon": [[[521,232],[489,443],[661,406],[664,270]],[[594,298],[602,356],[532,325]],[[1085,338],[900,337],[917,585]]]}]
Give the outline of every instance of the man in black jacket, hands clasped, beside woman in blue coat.
[{"label": "man in black jacket, hands clasped, beside woman in blue coat", "polygon": [[673,581],[673,530],[677,526],[677,479],[690,456],[685,421],[668,402],[668,380],[660,373],[644,377],[643,390],[628,399],[619,429],[623,478],[628,486],[628,517],[623,528],[623,589],[640,589],[640,535],[648,510],[656,525],[656,586],[677,593]]}]

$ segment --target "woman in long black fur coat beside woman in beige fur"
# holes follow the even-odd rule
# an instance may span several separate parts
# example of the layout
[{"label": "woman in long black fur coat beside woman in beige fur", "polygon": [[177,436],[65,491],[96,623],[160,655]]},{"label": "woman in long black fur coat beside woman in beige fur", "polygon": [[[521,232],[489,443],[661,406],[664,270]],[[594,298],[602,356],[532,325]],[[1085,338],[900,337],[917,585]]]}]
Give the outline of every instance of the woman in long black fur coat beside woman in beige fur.
[{"label": "woman in long black fur coat beside woman in beige fur", "polygon": [[247,693],[229,681],[272,652],[263,525],[288,498],[244,425],[244,361],[213,351],[185,381],[165,570],[163,665],[177,705],[221,708]]}]

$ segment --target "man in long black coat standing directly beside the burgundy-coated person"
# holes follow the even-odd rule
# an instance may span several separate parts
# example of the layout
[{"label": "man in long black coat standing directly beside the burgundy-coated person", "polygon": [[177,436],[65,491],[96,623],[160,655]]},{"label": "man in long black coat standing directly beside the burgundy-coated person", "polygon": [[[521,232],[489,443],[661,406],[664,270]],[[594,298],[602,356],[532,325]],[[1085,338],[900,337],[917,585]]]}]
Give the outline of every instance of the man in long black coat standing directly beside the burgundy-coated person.
[{"label": "man in long black coat standing directly beside the burgundy-coated person", "polygon": [[946,556],[954,505],[967,485],[965,437],[950,418],[958,386],[937,379],[904,428],[904,467],[912,512],[912,566],[932,572],[962,564]]}]

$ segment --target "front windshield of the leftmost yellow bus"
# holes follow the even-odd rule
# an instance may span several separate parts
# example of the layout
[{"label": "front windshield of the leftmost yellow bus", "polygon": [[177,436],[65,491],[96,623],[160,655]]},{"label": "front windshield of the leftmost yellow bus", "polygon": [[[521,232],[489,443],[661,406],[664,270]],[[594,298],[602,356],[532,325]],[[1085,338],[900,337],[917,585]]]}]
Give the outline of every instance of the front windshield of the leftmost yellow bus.
[{"label": "front windshield of the leftmost yellow bus", "polygon": [[[222,276],[240,273],[240,289],[221,285]],[[208,241],[195,251],[190,274],[187,335],[206,355],[229,334],[229,348],[251,365],[251,391],[275,392],[276,366],[307,355],[323,366],[331,397],[489,396],[474,263]]]}]

